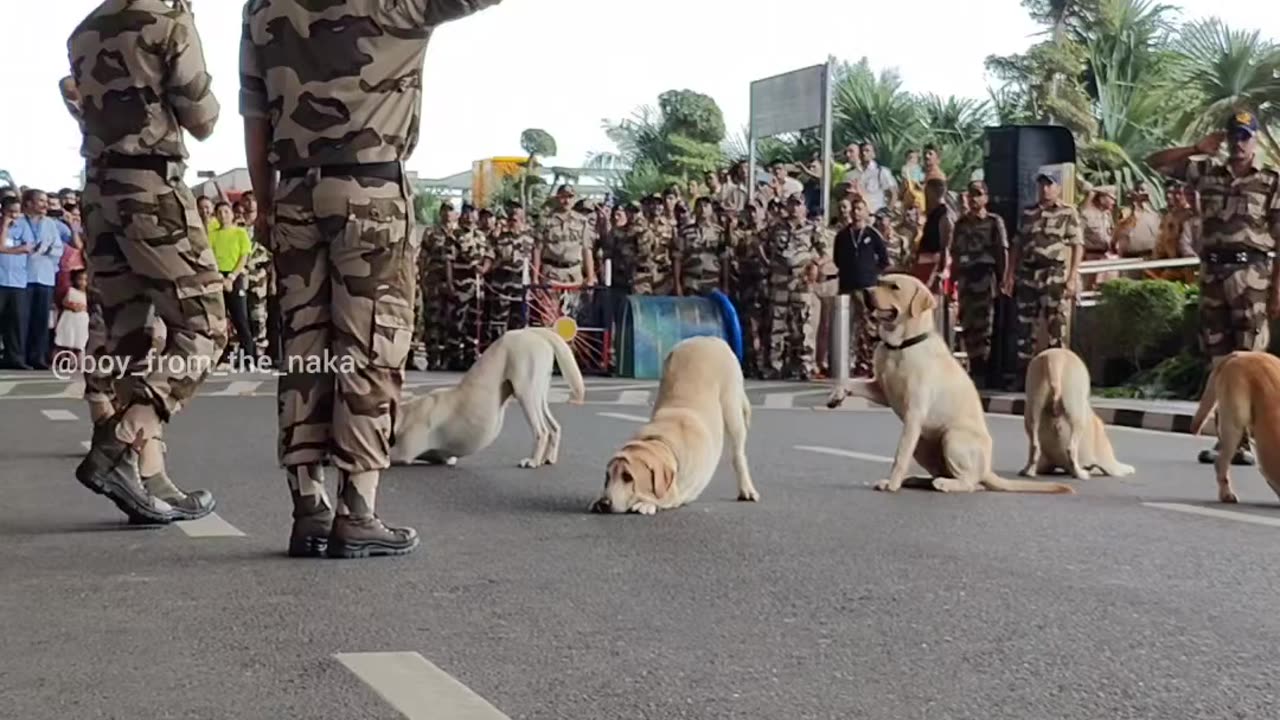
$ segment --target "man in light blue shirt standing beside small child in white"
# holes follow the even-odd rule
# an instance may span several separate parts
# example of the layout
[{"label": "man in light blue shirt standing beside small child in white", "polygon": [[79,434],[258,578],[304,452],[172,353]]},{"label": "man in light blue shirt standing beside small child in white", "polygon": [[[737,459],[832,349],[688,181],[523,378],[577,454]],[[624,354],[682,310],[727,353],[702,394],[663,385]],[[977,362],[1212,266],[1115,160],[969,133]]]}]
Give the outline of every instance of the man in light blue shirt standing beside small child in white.
[{"label": "man in light blue shirt standing beside small child in white", "polygon": [[54,286],[64,243],[72,231],[61,220],[49,217],[49,196],[28,190],[22,196],[22,217],[9,228],[9,237],[29,249],[27,254],[27,331],[26,365],[49,369],[49,314],[54,307]]}]

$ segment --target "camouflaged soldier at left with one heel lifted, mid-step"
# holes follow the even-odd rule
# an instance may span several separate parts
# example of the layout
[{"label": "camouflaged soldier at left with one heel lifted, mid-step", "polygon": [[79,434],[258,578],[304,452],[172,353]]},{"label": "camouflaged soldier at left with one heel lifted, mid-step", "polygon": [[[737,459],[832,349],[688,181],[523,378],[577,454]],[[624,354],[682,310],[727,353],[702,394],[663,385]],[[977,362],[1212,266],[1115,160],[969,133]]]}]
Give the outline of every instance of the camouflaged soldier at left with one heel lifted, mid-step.
[{"label": "camouflaged soldier at left with one heel lifted, mid-step", "polygon": [[[173,484],[161,439],[227,345],[223,278],[182,182],[183,129],[207,138],[220,110],[191,5],[106,0],[72,32],[68,51],[99,319],[86,352],[133,360],[119,379],[86,373],[93,437],[76,478],[136,523],[202,518],[214,497]],[[146,360],[152,313],[166,331],[160,363]]]}]

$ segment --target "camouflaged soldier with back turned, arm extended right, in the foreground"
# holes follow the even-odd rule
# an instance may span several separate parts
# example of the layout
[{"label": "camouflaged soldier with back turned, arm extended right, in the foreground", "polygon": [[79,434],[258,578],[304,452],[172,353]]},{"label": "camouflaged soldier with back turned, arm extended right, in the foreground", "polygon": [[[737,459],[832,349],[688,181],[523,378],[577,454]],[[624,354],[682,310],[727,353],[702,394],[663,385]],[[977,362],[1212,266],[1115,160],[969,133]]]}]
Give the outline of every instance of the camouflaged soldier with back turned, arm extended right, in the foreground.
[{"label": "camouflaged soldier with back turned, arm extended right, in the foreground", "polygon": [[[403,555],[419,544],[416,530],[376,514],[413,332],[419,237],[403,164],[417,145],[431,31],[498,1],[244,5],[241,114],[284,324],[289,555]],[[337,518],[321,474],[330,460]]]}]

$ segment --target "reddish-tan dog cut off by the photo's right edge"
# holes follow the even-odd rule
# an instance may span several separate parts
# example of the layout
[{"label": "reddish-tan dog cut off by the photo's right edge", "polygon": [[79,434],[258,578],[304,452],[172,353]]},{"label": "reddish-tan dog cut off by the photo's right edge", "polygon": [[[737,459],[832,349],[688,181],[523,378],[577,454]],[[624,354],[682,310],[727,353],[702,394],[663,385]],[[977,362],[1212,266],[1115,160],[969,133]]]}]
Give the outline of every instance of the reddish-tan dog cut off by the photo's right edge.
[{"label": "reddish-tan dog cut off by the photo's right edge", "polygon": [[1210,373],[1192,433],[1199,434],[1217,410],[1217,498],[1238,502],[1231,488],[1231,451],[1248,430],[1257,448],[1258,470],[1280,497],[1280,357],[1270,352],[1233,352]]}]

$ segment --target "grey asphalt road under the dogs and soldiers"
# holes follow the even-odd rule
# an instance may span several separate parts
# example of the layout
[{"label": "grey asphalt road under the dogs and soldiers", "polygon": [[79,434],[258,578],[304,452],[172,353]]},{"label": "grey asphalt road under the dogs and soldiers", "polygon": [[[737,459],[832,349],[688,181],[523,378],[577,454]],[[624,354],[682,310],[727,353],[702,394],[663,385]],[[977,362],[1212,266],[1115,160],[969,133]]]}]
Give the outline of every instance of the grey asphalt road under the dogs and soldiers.
[{"label": "grey asphalt road under the dogs and soldiers", "polygon": [[[10,387],[0,717],[1275,716],[1280,511],[1253,469],[1245,505],[1213,502],[1210,438],[1115,428],[1138,475],[1078,496],[888,496],[869,486],[896,418],[768,386],[760,503],[733,500],[726,462],[689,507],[598,516],[604,459],[646,415],[598,384],[553,406],[558,466],[515,468],[530,436],[508,411],[457,468],[392,470],[380,512],[424,544],[365,561],[283,555],[268,396],[201,397],[170,427],[172,474],[223,523],[134,529],[72,478],[83,406]],[[765,407],[787,392],[809,395]],[[989,423],[1010,477],[1020,420]]]}]

